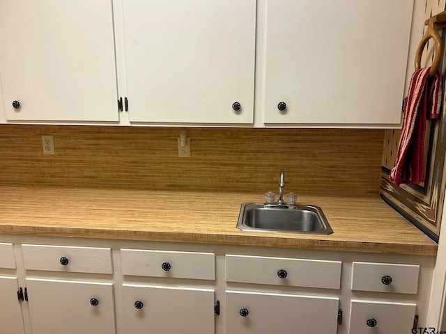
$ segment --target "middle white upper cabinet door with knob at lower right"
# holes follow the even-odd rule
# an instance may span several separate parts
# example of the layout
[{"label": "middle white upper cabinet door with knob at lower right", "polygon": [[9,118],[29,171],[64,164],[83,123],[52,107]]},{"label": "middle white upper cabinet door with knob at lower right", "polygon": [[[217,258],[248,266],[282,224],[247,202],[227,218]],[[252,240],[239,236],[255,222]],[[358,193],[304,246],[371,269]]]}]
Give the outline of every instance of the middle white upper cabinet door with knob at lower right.
[{"label": "middle white upper cabinet door with knob at lower right", "polygon": [[124,0],[123,17],[130,122],[253,122],[255,0]]}]

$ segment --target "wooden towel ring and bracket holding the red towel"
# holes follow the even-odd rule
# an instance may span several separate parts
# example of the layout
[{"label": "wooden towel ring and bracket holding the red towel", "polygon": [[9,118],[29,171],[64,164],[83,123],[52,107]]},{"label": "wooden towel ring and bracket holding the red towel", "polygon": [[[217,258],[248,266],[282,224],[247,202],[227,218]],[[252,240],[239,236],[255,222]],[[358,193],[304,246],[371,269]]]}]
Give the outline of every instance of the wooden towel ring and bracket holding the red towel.
[{"label": "wooden towel ring and bracket holding the red towel", "polygon": [[443,55],[443,41],[438,31],[446,29],[446,10],[430,19],[426,19],[424,24],[427,28],[415,54],[415,70],[420,70],[423,49],[426,43],[432,38],[435,44],[433,45],[433,62],[431,70],[429,71],[429,77],[433,77],[438,67],[440,67],[441,56]]}]

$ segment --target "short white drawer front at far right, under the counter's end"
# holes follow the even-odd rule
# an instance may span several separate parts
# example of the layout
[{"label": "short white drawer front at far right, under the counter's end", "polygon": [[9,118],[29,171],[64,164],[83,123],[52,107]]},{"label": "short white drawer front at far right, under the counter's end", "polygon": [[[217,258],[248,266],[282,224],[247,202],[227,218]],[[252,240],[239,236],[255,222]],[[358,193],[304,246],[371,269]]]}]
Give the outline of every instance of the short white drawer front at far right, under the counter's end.
[{"label": "short white drawer front at far right, under the counter's end", "polygon": [[419,272],[413,264],[353,262],[351,289],[417,294]]}]

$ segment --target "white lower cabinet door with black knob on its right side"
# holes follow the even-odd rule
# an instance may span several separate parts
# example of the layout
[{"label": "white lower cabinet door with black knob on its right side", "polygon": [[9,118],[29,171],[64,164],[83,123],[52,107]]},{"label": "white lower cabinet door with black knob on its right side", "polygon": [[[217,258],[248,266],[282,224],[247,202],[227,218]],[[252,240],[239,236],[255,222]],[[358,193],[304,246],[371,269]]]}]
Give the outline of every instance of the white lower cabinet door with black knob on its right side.
[{"label": "white lower cabinet door with black knob on its right side", "polygon": [[112,283],[26,278],[33,334],[113,334]]}]

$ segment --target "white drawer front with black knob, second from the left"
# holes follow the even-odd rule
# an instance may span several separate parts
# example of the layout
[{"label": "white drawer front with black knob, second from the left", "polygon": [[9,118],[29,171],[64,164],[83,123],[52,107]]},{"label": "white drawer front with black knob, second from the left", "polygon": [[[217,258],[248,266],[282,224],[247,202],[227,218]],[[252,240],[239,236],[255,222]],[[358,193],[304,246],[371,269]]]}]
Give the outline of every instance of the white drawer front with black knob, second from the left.
[{"label": "white drawer front with black knob, second from the left", "polygon": [[110,248],[22,245],[27,270],[113,273]]}]

